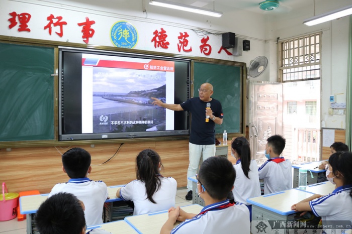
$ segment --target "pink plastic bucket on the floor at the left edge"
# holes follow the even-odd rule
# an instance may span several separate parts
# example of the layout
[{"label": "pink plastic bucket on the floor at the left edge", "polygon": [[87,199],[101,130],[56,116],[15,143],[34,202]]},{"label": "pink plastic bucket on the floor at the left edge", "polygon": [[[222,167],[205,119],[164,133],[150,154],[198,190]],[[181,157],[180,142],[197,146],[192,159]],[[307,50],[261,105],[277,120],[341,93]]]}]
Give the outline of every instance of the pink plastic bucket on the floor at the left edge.
[{"label": "pink plastic bucket on the floor at the left edge", "polygon": [[[6,190],[6,193],[5,193]],[[0,195],[0,221],[7,221],[17,217],[17,205],[19,194],[8,192],[5,182],[3,183],[3,193]]]}]

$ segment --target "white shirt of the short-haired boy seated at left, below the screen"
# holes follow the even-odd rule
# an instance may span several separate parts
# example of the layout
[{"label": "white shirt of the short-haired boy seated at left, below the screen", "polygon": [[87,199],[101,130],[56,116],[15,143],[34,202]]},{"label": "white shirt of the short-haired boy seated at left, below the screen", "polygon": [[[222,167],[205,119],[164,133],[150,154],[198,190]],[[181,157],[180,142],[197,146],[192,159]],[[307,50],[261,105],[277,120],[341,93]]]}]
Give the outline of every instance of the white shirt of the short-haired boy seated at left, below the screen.
[{"label": "white shirt of the short-haired boy seated at left, below the screen", "polygon": [[103,181],[93,181],[86,177],[70,179],[67,183],[56,184],[48,197],[59,192],[72,193],[84,203],[84,217],[87,226],[103,223],[104,202],[109,195],[108,188]]}]

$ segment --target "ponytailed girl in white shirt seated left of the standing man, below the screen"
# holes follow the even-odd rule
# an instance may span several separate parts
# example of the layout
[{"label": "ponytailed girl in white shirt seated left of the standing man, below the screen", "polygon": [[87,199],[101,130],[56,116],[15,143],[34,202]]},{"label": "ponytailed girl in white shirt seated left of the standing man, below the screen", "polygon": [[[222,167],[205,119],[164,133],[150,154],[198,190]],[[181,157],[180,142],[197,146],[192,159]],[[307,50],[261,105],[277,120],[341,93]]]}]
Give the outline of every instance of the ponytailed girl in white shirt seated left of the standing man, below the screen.
[{"label": "ponytailed girl in white shirt seated left of the standing man, below the screen", "polygon": [[133,214],[144,214],[168,209],[175,205],[177,181],[160,174],[160,156],[146,149],[136,158],[137,180],[119,188],[116,196],[125,201],[133,201]]}]

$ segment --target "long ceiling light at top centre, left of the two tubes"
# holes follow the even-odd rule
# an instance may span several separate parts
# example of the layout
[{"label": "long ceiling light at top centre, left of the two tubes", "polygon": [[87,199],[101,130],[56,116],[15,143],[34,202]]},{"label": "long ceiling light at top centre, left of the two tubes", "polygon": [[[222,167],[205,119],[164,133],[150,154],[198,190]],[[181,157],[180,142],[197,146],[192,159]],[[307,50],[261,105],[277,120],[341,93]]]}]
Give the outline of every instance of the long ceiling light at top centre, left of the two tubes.
[{"label": "long ceiling light at top centre, left of the two tubes", "polygon": [[198,13],[202,15],[207,15],[207,16],[213,16],[213,17],[221,17],[222,12],[218,11],[212,11],[204,8],[198,8],[198,7],[193,7],[190,5],[185,5],[185,4],[180,4],[180,3],[171,3],[163,0],[150,0],[149,2],[150,5],[154,6],[159,6],[159,7],[164,7],[164,8],[171,8],[175,10],[181,10],[181,11],[186,11],[186,12],[193,12],[193,13]]}]

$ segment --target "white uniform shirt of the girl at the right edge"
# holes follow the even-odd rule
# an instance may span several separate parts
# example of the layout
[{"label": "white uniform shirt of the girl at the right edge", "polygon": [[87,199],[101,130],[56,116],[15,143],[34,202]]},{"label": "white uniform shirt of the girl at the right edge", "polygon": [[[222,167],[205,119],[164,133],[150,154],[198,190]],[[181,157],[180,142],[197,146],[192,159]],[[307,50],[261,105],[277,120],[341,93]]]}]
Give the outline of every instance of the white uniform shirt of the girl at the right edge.
[{"label": "white uniform shirt of the girl at the right edge", "polygon": [[314,215],[321,216],[323,225],[328,225],[328,221],[332,220],[352,222],[352,197],[349,196],[351,190],[352,184],[340,186],[332,193],[309,202]]}]

